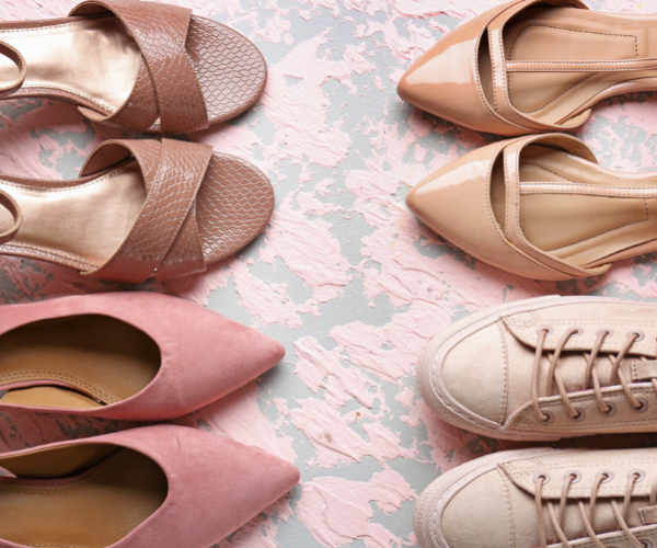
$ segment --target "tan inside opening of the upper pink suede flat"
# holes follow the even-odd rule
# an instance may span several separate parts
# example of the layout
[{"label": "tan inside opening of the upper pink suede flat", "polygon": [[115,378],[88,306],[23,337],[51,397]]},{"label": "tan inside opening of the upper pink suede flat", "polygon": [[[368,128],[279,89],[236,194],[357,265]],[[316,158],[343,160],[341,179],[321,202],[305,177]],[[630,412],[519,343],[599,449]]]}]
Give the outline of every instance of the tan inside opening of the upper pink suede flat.
[{"label": "tan inside opening of the upper pink suede flat", "polygon": [[2,403],[97,408],[146,388],[160,369],[155,342],[99,315],[28,323],[0,335]]}]

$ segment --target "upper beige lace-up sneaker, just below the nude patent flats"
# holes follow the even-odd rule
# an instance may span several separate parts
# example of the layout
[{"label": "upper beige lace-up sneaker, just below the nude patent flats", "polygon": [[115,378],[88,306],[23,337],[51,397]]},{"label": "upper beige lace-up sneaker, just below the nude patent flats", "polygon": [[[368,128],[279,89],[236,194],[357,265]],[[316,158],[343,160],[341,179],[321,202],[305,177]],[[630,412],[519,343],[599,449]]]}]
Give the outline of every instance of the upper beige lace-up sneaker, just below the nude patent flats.
[{"label": "upper beige lace-up sneaker, just below the nude patent flats", "polygon": [[657,431],[657,305],[603,297],[508,302],[453,323],[417,383],[445,421],[555,441]]}]

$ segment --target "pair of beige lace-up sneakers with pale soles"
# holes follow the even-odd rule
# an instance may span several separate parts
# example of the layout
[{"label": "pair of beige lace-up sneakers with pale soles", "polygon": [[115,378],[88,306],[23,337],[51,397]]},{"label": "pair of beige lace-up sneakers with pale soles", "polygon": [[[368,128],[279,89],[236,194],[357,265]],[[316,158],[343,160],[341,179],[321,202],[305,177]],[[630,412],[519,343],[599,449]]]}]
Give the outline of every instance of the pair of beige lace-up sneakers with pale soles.
[{"label": "pair of beige lace-up sneakers with pale soles", "polygon": [[[442,420],[499,439],[657,432],[656,356],[657,305],[552,296],[456,322],[417,383]],[[657,448],[475,459],[425,490],[414,526],[423,548],[657,546]]]}]

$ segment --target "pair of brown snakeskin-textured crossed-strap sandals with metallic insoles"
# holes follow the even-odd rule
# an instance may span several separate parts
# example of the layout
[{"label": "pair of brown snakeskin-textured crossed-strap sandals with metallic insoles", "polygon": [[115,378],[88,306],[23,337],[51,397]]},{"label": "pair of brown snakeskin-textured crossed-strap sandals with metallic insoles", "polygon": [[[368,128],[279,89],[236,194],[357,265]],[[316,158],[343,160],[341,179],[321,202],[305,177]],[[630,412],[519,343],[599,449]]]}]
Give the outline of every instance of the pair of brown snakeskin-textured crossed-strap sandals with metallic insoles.
[{"label": "pair of brown snakeskin-textured crossed-strap sandals with metallic insoles", "polygon": [[[267,75],[261,53],[234,31],[140,0],[0,23],[0,99],[64,99],[93,121],[139,133],[233,117],[260,98]],[[272,217],[274,191],[261,170],[206,145],[112,140],[73,181],[0,174],[0,254],[139,284],[205,272],[244,248]]]}]

